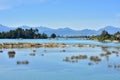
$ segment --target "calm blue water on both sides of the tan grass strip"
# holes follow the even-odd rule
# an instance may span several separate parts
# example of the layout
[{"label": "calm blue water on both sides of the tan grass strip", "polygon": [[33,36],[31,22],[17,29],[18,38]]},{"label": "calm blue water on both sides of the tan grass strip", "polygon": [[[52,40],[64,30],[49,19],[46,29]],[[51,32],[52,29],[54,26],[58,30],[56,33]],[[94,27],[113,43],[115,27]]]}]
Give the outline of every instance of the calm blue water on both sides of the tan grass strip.
[{"label": "calm blue water on both sides of the tan grass strip", "polygon": [[[100,44],[108,46],[120,46],[120,43],[101,43],[80,39],[59,40],[16,40],[1,39],[3,42],[58,42],[66,44]],[[31,49],[2,49],[0,53],[0,80],[119,80],[120,53],[111,54],[109,57],[100,57],[105,52],[101,47],[66,47],[66,48],[31,48]],[[14,56],[8,55],[8,51],[14,50]],[[33,52],[35,50],[35,52]],[[62,52],[65,50],[65,52]],[[109,51],[120,52],[119,48],[107,48]],[[35,53],[31,56],[31,53]],[[66,57],[87,55],[87,59],[77,62],[66,62]],[[90,56],[99,56],[100,62],[93,62]],[[28,64],[17,64],[18,61],[28,61]],[[88,65],[89,63],[92,65]],[[112,65],[112,67],[109,67]]]}]

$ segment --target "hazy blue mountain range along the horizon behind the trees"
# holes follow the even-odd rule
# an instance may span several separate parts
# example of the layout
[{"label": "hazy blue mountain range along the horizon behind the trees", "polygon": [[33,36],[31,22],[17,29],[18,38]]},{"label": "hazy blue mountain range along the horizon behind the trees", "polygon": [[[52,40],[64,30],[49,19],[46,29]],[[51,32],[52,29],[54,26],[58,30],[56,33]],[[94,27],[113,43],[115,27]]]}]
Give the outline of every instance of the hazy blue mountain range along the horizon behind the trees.
[{"label": "hazy blue mountain range along the horizon behind the trees", "polygon": [[[18,28],[18,27],[16,27]],[[7,32],[10,30],[14,30],[16,28],[13,27],[8,27],[0,24],[0,32]],[[71,35],[71,36],[77,36],[77,35],[98,35],[100,34],[103,30],[108,31],[110,34],[114,34],[118,31],[120,31],[120,28],[114,27],[114,26],[107,26],[104,28],[101,28],[99,30],[91,30],[91,29],[83,29],[83,30],[73,30],[68,27],[66,28],[58,28],[58,29],[52,29],[48,27],[29,27],[29,26],[20,26],[19,28],[22,29],[29,29],[29,28],[37,28],[39,30],[39,33],[46,33],[47,35],[50,35],[52,33],[55,33],[57,35]]]}]

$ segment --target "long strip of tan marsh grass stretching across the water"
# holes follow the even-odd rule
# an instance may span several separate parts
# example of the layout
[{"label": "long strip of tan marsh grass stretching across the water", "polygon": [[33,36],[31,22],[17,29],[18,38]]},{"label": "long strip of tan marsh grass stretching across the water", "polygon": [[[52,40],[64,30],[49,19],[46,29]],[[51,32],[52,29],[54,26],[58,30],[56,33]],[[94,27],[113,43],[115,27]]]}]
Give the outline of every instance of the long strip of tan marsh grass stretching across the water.
[{"label": "long strip of tan marsh grass stretching across the water", "polygon": [[9,48],[59,48],[59,47],[116,47],[120,48],[120,46],[110,46],[110,45],[102,45],[102,44],[65,44],[65,43],[28,43],[28,42],[7,42],[0,43],[0,49],[9,49]]}]

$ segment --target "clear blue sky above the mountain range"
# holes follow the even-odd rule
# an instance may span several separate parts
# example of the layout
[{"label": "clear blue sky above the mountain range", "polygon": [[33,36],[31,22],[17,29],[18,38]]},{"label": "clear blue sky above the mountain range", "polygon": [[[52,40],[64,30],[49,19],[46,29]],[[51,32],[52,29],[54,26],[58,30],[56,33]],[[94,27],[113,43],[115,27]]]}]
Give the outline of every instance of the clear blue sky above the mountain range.
[{"label": "clear blue sky above the mountain range", "polygon": [[0,24],[76,30],[120,27],[120,0],[0,0]]}]

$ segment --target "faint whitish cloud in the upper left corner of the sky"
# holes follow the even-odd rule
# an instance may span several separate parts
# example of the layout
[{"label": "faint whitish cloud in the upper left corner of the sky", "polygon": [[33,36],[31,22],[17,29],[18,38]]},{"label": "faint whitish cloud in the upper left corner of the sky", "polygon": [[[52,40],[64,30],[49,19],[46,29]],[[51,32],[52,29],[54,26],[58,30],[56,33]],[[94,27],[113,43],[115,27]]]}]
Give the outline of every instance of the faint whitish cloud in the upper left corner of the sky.
[{"label": "faint whitish cloud in the upper left corner of the sky", "polygon": [[47,0],[0,0],[0,10],[10,9],[22,4],[43,3]]}]

